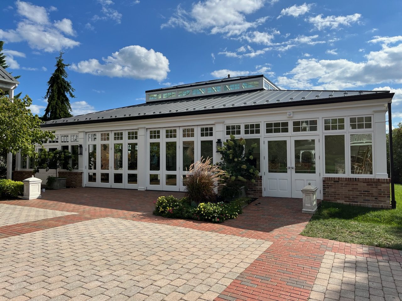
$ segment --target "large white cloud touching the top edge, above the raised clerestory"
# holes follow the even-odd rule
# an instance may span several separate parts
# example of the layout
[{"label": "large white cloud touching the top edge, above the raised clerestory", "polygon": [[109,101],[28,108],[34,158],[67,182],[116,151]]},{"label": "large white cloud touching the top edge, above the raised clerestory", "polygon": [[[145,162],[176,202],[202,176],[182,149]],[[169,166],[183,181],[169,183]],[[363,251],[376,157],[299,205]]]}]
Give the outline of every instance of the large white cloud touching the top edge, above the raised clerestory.
[{"label": "large white cloud touching the top edge, above the raised clerestory", "polygon": [[265,22],[267,17],[252,22],[246,20],[246,15],[262,8],[264,2],[264,0],[238,0],[236,5],[233,5],[232,0],[205,0],[193,4],[188,12],[178,6],[173,16],[162,24],[161,28],[177,26],[192,33],[222,33],[228,37],[240,35],[249,28]]}]

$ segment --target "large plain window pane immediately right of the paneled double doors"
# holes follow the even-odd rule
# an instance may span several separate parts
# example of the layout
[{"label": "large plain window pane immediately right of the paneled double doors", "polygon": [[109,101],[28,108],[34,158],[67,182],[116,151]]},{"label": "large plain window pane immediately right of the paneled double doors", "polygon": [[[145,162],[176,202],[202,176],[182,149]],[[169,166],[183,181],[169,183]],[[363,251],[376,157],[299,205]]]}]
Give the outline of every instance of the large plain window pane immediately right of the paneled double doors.
[{"label": "large plain window pane immediately right of the paneled double doors", "polygon": [[345,135],[327,135],[325,139],[325,173],[345,174]]}]

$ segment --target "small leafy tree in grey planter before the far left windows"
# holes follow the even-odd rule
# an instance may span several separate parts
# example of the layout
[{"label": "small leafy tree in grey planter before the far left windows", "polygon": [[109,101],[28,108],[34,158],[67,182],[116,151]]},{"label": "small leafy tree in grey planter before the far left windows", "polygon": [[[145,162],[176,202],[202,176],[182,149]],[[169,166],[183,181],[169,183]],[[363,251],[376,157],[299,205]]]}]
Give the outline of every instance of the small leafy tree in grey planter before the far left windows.
[{"label": "small leafy tree in grey planter before the far left windows", "polygon": [[58,177],[57,170],[61,168],[71,171],[70,159],[72,158],[71,153],[68,150],[56,149],[53,151],[48,151],[43,149],[41,153],[38,154],[35,159],[35,170],[34,172],[39,172],[39,169],[55,169],[56,177],[47,177],[47,187],[50,189],[61,189],[66,188],[67,178]]}]

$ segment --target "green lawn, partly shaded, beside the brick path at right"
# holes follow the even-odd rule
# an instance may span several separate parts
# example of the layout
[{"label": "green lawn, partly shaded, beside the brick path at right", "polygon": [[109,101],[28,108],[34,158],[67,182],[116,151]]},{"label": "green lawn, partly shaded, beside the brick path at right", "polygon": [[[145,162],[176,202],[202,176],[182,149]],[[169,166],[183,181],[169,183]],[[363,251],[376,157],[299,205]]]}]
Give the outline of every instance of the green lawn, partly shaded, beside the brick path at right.
[{"label": "green lawn, partly shaded, beside the brick path at right", "polygon": [[322,202],[301,235],[402,250],[402,185],[395,199],[395,210]]}]

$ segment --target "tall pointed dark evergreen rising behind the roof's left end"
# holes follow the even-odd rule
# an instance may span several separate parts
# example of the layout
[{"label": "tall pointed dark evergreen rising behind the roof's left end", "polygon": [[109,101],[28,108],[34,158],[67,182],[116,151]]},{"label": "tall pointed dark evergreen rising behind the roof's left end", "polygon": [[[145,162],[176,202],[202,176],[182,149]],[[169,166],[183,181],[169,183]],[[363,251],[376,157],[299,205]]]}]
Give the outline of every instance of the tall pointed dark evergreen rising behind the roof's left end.
[{"label": "tall pointed dark evergreen rising behind the roof's left end", "polygon": [[70,64],[63,63],[63,52],[56,57],[56,69],[47,82],[47,92],[44,98],[47,98],[47,107],[43,120],[53,120],[59,118],[71,117],[70,98],[75,98],[73,92],[74,88],[71,82],[67,81],[68,74],[66,67]]}]

